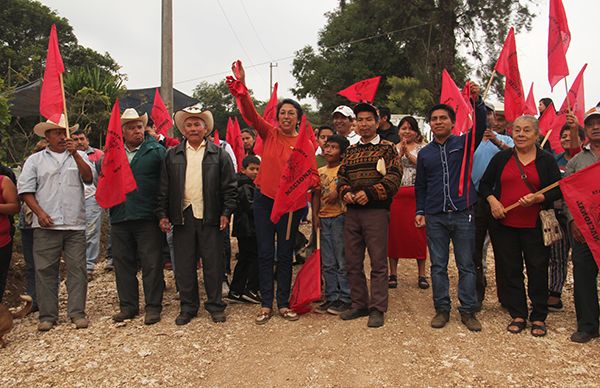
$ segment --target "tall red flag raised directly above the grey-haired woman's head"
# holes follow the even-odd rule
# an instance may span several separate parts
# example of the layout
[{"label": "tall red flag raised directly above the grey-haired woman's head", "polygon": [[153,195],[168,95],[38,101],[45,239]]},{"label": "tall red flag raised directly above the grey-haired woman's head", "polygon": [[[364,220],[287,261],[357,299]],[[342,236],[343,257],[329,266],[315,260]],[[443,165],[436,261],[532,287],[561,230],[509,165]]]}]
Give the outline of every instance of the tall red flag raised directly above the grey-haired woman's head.
[{"label": "tall red flag raised directly above the grey-haired woman's head", "polygon": [[515,42],[515,29],[508,31],[508,36],[494,67],[498,73],[506,77],[504,87],[504,116],[507,121],[513,122],[525,111],[525,93],[519,72],[517,59],[517,44]]}]

